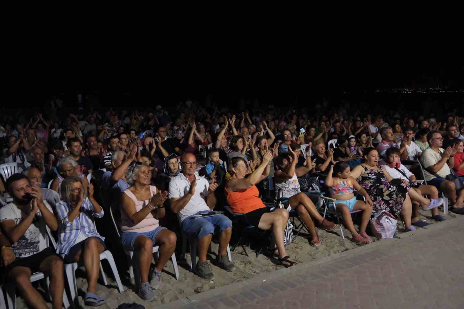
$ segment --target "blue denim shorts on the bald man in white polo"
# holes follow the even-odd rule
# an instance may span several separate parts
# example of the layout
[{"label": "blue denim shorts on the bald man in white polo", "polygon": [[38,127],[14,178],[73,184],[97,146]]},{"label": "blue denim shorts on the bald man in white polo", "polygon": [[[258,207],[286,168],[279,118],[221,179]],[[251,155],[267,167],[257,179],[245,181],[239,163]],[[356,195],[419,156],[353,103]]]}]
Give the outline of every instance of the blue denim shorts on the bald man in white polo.
[{"label": "blue denim shorts on the bald man in white polo", "polygon": [[[193,215],[199,214],[194,213]],[[180,229],[187,237],[202,238],[213,234],[215,229],[222,233],[226,228],[232,227],[232,221],[222,213],[216,216],[193,219],[190,215],[180,224]]]}]

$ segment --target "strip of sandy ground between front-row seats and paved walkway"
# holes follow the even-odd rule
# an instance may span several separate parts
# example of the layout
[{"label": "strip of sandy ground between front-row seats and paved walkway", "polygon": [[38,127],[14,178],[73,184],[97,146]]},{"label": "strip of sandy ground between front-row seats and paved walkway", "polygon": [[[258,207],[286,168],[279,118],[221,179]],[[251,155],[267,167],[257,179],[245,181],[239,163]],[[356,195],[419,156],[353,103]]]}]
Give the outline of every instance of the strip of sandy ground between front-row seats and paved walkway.
[{"label": "strip of sandy ground between front-row seats and paved walkway", "polygon": [[[451,212],[449,215],[444,215],[443,212],[441,212],[441,210],[440,214],[443,215],[446,219],[456,218],[457,216]],[[438,224],[434,220],[430,219],[430,212],[420,211],[419,218],[426,220],[427,222],[432,224]],[[357,227],[358,226],[356,225],[356,228]],[[338,227],[333,232],[326,232],[319,229],[317,230],[317,232],[319,234],[322,245],[318,247],[311,247],[309,245],[308,235],[300,234],[287,247],[287,251],[290,257],[298,263],[304,263],[308,261],[314,261],[316,259],[323,259],[324,257],[328,257],[331,254],[335,254],[341,251],[347,251],[358,246],[350,240],[351,234],[350,232],[348,232],[346,228],[343,229],[343,233],[345,234],[345,240],[342,239],[340,235],[340,229]],[[402,232],[403,226],[401,224],[401,221],[399,221],[397,233]],[[213,238],[213,242],[214,241],[215,239]],[[232,238],[232,242],[233,241],[234,239]],[[180,239],[178,243],[180,243]],[[216,243],[213,243],[212,248],[213,253],[210,253],[208,255],[208,259],[210,260],[213,260],[216,257],[216,254],[214,252],[217,252],[218,250],[217,241]],[[254,249],[254,246],[252,246],[252,248]],[[186,255],[187,261],[182,260],[180,258],[180,254],[177,255],[177,262],[179,265],[180,272],[179,280],[175,279],[173,265],[171,262],[168,262],[168,264],[164,268],[164,272],[162,275],[161,287],[156,292],[158,295],[158,300],[152,303],[144,302],[140,297],[138,297],[135,294],[133,285],[130,284],[130,281],[128,279],[128,273],[125,270],[120,271],[120,276],[124,285],[124,293],[122,294],[120,294],[117,290],[116,283],[112,278],[111,272],[106,271],[106,273],[108,274],[107,278],[109,285],[105,287],[99,280],[99,284],[97,286],[97,294],[107,299],[108,302],[107,304],[100,306],[100,308],[114,309],[122,303],[133,302],[142,304],[146,308],[155,308],[164,303],[169,303],[180,298],[191,296],[196,293],[212,290],[230,283],[240,282],[244,279],[254,277],[256,274],[271,272],[283,267],[281,265],[277,265],[276,259],[269,258],[267,256],[264,256],[263,254],[261,254],[258,258],[255,258],[256,252],[254,250],[251,250],[249,245],[246,245],[245,249],[247,250],[249,257],[245,255],[244,251],[240,246],[237,246],[235,251],[232,252],[232,261],[237,266],[237,269],[235,271],[229,273],[225,270],[220,269],[217,266],[212,266],[215,275],[214,281],[206,281],[188,271],[189,264],[187,264],[187,261],[188,263],[190,263],[190,256],[188,253]],[[105,267],[105,263],[106,262],[103,262],[103,267]],[[126,267],[126,265],[124,265],[123,267]],[[84,306],[82,296],[84,296],[84,291],[87,287],[87,280],[84,277],[84,273],[80,272],[79,270],[77,272],[77,276],[79,276],[77,278],[77,285],[80,305],[77,308],[86,308]],[[49,308],[52,308],[50,303],[48,303],[48,306]],[[26,304],[19,296],[17,297],[17,308],[27,308]]]}]

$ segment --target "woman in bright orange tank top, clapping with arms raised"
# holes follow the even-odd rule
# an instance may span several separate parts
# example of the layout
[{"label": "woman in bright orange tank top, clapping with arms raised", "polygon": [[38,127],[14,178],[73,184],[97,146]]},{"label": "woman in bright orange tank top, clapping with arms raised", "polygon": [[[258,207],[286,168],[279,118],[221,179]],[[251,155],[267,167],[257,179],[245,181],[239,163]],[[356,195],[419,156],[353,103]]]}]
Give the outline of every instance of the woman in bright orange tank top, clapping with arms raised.
[{"label": "woman in bright orange tank top, clapping with arms raised", "polygon": [[288,212],[277,208],[270,212],[258,197],[258,188],[255,186],[269,173],[272,160],[272,152],[267,151],[263,156],[261,164],[247,178],[248,172],[245,160],[241,157],[232,158],[229,173],[232,177],[227,181],[225,187],[226,201],[234,213],[244,213],[238,218],[244,225],[254,225],[261,230],[272,230],[274,234],[279,262],[284,266],[293,266],[295,261],[290,260],[284,246],[284,230],[287,226]]}]

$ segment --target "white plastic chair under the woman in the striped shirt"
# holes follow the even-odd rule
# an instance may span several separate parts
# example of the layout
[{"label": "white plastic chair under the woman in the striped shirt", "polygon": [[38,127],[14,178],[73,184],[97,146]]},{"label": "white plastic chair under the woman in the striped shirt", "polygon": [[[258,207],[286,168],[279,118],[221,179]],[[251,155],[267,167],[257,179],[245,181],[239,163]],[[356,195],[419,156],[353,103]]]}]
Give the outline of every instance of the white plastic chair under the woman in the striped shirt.
[{"label": "white plastic chair under the woman in the striped shirt", "polygon": [[[95,222],[94,222],[95,226]],[[97,226],[95,226],[95,229],[97,229]],[[52,233],[50,232],[50,229],[47,226],[47,233],[49,238],[52,240],[53,247],[56,248],[56,241],[55,238],[53,238]],[[124,289],[122,287],[122,282],[119,277],[119,273],[116,268],[116,263],[113,258],[113,255],[109,250],[105,250],[102,253],[100,253],[100,261],[103,259],[107,259],[108,263],[110,263],[111,270],[113,271],[113,275],[116,279],[116,284],[119,290],[119,293],[123,293]],[[77,283],[76,283],[76,270],[79,268],[77,263],[70,263],[70,264],[64,264],[64,271],[66,273],[66,278],[68,279],[68,285],[69,285],[69,290],[71,291],[71,302],[74,303],[77,300]],[[103,284],[106,286],[108,285],[108,281],[106,280],[105,273],[103,272],[103,266],[102,262],[100,262],[100,276],[103,279]]]}]

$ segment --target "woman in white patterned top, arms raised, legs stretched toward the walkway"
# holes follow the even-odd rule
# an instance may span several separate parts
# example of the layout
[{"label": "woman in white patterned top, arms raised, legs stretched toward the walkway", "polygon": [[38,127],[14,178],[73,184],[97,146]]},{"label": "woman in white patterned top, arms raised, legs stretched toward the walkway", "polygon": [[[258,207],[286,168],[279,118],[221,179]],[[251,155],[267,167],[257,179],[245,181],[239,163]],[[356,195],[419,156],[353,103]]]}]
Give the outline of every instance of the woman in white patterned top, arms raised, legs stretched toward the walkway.
[{"label": "woman in white patterned top, arms raised, legs stretched toward the walkway", "polygon": [[[316,227],[314,226],[313,219],[316,220],[317,224],[322,229],[327,231],[334,230],[337,225],[322,218],[311,199],[301,192],[300,184],[296,175],[298,155],[291,147],[289,147],[289,154],[290,157],[287,154],[281,154],[276,159],[276,164],[280,168],[274,173],[274,186],[276,187],[276,192],[278,189],[282,189],[282,197],[289,199],[290,207],[296,210],[300,218],[303,220],[304,225],[308,228],[309,233],[311,234],[311,241],[309,244],[311,246],[318,246],[321,245],[321,242],[319,241],[319,237],[316,233]],[[312,169],[310,161],[307,163],[306,169],[308,171]]]}]

